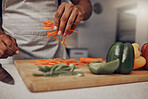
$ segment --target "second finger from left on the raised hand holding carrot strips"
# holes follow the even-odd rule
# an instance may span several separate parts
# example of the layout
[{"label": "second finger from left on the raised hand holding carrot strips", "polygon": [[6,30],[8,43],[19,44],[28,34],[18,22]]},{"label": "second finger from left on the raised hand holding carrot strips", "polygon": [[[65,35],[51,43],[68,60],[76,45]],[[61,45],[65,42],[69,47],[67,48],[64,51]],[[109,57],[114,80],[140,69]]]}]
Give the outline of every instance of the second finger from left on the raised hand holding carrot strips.
[{"label": "second finger from left on the raised hand holding carrot strips", "polygon": [[72,10],[73,10],[73,7],[74,7],[74,5],[72,5],[72,4],[69,4],[68,6],[69,7],[67,7],[65,9],[65,11],[61,17],[61,20],[60,20],[60,26],[59,26],[59,32],[58,32],[59,35],[63,35],[63,32],[66,28],[67,21],[69,19],[69,16],[70,16]]}]

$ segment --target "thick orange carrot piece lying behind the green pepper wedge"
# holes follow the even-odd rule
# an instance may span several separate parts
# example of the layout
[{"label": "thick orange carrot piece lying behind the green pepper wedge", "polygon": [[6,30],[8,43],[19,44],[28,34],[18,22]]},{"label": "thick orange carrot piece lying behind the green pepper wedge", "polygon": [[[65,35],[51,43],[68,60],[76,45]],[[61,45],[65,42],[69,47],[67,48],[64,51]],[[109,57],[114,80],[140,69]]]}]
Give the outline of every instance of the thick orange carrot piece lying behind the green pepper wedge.
[{"label": "thick orange carrot piece lying behind the green pepper wedge", "polygon": [[81,62],[81,63],[91,63],[91,62],[98,61],[98,60],[100,60],[100,62],[103,61],[102,58],[80,57],[80,62]]}]

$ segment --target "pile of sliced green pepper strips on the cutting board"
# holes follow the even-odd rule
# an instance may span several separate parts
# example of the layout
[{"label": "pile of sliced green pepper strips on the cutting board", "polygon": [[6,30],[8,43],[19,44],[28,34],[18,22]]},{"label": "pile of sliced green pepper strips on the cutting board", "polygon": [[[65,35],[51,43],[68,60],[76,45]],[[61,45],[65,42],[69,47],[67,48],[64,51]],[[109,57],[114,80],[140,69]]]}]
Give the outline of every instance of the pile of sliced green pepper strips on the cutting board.
[{"label": "pile of sliced green pepper strips on the cutting board", "polygon": [[42,73],[33,73],[33,76],[83,76],[83,73],[80,72],[74,72],[75,65],[74,64],[70,64],[69,66],[66,65],[65,63],[57,63],[52,65],[51,67],[49,66],[38,66],[39,67],[39,71],[41,71]]}]

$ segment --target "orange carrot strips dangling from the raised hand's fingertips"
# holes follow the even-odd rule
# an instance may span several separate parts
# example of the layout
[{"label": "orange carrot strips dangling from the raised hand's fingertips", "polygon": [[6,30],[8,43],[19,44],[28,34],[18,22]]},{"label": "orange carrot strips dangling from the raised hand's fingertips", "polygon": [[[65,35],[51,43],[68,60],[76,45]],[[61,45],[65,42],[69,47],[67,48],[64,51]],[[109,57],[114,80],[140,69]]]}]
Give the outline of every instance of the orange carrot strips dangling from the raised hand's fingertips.
[{"label": "orange carrot strips dangling from the raised hand's fingertips", "polygon": [[[43,28],[44,29],[53,29],[54,28],[54,21],[51,21],[51,20],[48,20],[47,22],[42,22],[44,24],[44,27],[46,28]],[[78,33],[78,31],[75,31],[75,30],[70,30],[69,31],[70,33],[72,32],[75,32],[75,33]],[[46,37],[49,37],[49,36],[53,36],[55,39],[57,39],[62,45],[64,45],[66,47],[66,44],[65,44],[65,40],[66,40],[66,37],[64,38],[63,41],[61,41],[59,38],[57,38],[55,35],[58,34],[58,31],[53,31],[53,32],[48,32],[48,35]]]}]

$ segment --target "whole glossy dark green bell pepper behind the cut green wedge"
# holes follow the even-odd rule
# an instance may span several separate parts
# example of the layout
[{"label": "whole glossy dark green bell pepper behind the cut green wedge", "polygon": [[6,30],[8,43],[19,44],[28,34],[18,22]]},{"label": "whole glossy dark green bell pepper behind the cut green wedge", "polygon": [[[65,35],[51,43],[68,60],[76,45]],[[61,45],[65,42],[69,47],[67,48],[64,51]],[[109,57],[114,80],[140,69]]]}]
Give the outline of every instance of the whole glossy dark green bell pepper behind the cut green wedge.
[{"label": "whole glossy dark green bell pepper behind the cut green wedge", "polygon": [[116,73],[129,74],[134,66],[134,48],[130,43],[116,42],[108,51],[106,61],[119,59],[120,65]]}]

